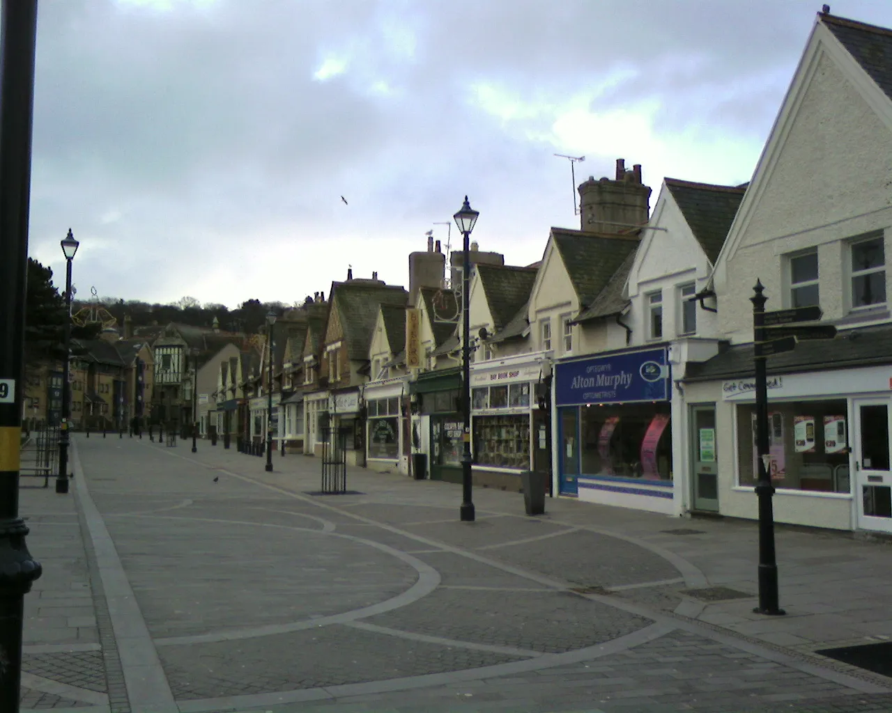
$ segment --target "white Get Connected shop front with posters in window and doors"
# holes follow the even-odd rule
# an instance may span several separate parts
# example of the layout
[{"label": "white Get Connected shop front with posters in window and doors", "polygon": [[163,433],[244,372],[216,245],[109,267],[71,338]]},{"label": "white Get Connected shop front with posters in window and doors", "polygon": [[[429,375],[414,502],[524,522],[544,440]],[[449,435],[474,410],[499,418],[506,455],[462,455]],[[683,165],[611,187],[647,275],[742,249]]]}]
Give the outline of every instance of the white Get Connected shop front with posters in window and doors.
[{"label": "white Get Connected shop front with posters in window and doors", "polygon": [[[890,380],[888,365],[769,374],[768,455],[776,488],[775,520],[892,534]],[[717,402],[721,512],[755,520],[754,379],[694,381],[685,389],[692,397]]]}]

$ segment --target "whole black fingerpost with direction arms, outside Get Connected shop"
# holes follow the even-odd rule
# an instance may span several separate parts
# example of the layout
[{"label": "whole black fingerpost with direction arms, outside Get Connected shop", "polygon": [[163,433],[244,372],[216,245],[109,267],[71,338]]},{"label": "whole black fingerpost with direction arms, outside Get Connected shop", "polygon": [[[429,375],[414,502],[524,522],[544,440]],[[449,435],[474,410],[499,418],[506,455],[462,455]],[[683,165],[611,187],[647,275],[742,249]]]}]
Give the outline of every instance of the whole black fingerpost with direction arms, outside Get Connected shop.
[{"label": "whole black fingerpost with direction arms, outside Get Connected shop", "polygon": [[[774,552],[774,486],[770,472],[771,455],[768,447],[768,377],[765,360],[796,348],[797,340],[828,340],[836,336],[830,324],[798,324],[821,319],[821,307],[795,307],[765,312],[764,287],[756,280],[753,303],[753,340],[756,353],[756,462],[759,477],[756,496],[759,498],[759,605],[758,614],[780,616],[778,595],[778,565]],[[788,326],[789,325],[789,326]],[[796,325],[796,326],[793,326]]]}]

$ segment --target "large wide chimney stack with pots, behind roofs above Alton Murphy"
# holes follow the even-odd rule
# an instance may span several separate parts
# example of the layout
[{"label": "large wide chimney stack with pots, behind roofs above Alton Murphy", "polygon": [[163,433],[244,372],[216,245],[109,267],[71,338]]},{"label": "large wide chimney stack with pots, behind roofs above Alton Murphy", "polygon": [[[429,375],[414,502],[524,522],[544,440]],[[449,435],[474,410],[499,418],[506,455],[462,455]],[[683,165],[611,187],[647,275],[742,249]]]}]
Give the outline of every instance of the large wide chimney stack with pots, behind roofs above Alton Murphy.
[{"label": "large wide chimney stack with pots, behind roofs above Alton Murphy", "polygon": [[650,187],[641,183],[641,165],[625,168],[625,160],[616,160],[615,179],[594,176],[579,186],[582,230],[598,233],[632,233],[635,225],[644,225],[650,216]]}]

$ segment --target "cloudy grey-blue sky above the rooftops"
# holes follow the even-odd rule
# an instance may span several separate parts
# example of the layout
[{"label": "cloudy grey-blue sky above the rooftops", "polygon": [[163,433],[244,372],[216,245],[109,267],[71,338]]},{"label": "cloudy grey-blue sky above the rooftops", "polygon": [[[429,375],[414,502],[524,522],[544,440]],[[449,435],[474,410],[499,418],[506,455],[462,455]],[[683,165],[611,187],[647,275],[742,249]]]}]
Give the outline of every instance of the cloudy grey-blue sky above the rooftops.
[{"label": "cloudy grey-blue sky above the rooftops", "polygon": [[[888,0],[832,2],[892,27]],[[29,253],[78,299],[236,307],[425,233],[526,265],[576,183],[749,180],[820,2],[40,0]],[[342,196],[346,203],[342,201]]]}]

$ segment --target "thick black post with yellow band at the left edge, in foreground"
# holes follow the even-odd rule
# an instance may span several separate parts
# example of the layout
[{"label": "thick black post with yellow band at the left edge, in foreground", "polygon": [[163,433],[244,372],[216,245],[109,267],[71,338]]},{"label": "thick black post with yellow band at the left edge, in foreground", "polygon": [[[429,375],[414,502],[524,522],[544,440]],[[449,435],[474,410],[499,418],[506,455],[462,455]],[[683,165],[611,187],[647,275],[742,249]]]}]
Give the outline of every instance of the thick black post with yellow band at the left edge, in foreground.
[{"label": "thick black post with yellow band at the left edge, in foreground", "polygon": [[0,33],[0,710],[18,713],[24,597],[42,573],[19,517],[37,0],[4,0]]}]

